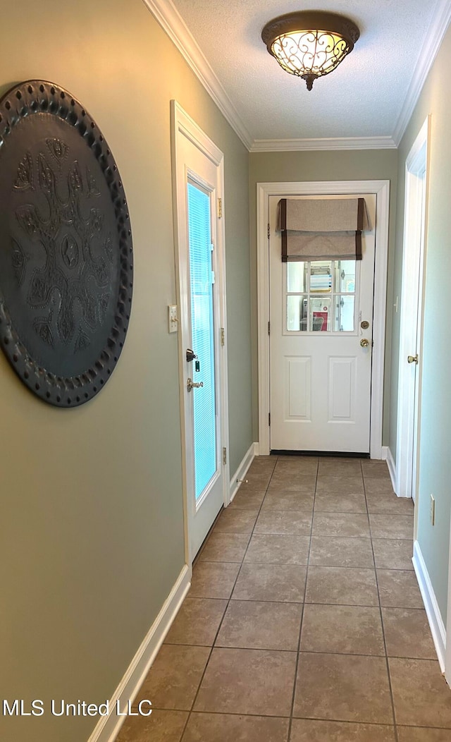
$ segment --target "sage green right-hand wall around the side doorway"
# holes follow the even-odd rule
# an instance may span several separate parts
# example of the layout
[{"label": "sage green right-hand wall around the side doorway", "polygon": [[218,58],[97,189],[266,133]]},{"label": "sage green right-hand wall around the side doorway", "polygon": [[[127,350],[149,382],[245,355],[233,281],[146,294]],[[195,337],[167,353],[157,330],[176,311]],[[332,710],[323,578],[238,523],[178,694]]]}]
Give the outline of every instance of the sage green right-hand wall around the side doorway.
[{"label": "sage green right-hand wall around the side doorway", "polygon": [[[429,198],[424,306],[423,378],[421,392],[418,542],[445,626],[451,511],[451,343],[447,321],[450,294],[451,194],[451,30],[448,30],[399,147],[398,220],[394,295],[401,297],[404,187],[406,157],[431,114]],[[396,454],[398,338],[400,316],[393,318],[392,415],[390,449]],[[429,521],[429,495],[435,497],[435,526]]]}]

